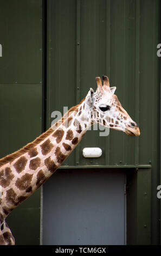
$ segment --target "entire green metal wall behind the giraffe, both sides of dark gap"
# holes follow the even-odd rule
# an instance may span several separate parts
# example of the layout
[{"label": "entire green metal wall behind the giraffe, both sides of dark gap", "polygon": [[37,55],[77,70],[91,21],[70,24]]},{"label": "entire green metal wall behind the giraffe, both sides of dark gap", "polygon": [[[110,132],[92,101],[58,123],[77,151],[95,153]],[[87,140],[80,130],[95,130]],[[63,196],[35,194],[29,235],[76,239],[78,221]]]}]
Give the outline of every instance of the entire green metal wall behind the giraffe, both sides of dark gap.
[{"label": "entire green metal wall behind the giraffe, both sides of dark gap", "polygon": [[[110,136],[100,137],[99,131],[87,131],[63,168],[123,168],[128,182],[127,242],[159,244],[160,1],[44,3],[47,70],[46,62],[42,69],[42,1],[0,1],[0,157],[41,133],[43,70],[46,128],[53,121],[51,112],[76,105],[90,87],[96,89],[95,76],[108,75],[141,135],[132,138],[111,130]],[[100,147],[103,155],[83,159],[84,147]],[[40,243],[40,190],[9,215],[8,224],[18,245]]]}]

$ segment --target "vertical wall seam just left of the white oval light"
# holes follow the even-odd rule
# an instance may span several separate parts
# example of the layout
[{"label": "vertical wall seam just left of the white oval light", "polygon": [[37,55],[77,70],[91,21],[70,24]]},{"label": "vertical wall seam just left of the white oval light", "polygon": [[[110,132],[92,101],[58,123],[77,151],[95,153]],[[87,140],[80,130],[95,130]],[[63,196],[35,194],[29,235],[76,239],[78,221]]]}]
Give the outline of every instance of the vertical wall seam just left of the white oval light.
[{"label": "vertical wall seam just left of the white oval light", "polygon": [[[76,104],[80,102],[80,26],[81,26],[81,3],[76,0]],[[80,144],[75,149],[75,162],[78,166],[80,164]]]}]

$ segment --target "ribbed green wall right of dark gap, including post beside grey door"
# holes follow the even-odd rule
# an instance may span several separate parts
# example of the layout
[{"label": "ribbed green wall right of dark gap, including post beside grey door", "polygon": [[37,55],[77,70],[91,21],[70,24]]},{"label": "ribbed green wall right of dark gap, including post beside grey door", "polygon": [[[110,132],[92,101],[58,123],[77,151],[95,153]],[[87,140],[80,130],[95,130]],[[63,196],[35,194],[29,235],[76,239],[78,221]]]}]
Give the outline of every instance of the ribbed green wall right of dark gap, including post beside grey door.
[{"label": "ribbed green wall right of dark gap, including post beside grey door", "polygon": [[[106,74],[141,132],[139,138],[132,138],[114,130],[107,137],[87,131],[63,166],[127,168],[127,242],[157,244],[160,1],[47,3],[47,127],[53,121],[51,112],[62,113],[63,106],[76,105],[90,87],[96,89],[95,77]],[[100,147],[103,154],[99,159],[84,159],[84,147]]]}]

